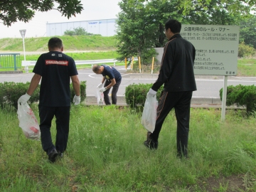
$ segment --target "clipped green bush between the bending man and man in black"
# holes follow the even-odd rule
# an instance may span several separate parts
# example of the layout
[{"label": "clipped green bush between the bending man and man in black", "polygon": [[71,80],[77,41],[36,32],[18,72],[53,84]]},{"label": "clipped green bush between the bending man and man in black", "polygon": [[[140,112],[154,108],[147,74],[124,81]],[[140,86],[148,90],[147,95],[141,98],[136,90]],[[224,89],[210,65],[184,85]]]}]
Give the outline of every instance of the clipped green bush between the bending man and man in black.
[{"label": "clipped green bush between the bending man and man in black", "polygon": [[[149,92],[149,89],[152,87],[152,84],[135,84],[128,85],[125,87],[125,100],[129,107],[137,107],[142,105],[144,107],[146,101],[146,94]],[[156,93],[156,99],[159,100],[161,96],[162,87]]]}]

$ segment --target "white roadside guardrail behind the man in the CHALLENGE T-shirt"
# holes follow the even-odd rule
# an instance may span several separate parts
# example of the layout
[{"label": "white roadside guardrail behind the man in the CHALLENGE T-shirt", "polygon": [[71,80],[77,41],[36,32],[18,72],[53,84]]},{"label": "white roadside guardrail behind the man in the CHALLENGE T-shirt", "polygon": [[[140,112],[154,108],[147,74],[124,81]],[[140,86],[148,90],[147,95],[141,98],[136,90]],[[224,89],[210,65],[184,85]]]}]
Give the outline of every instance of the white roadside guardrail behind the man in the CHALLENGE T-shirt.
[{"label": "white roadside guardrail behind the man in the CHALLENGE T-shirt", "polygon": [[[115,59],[102,59],[102,60],[75,60],[75,65],[95,65],[95,64],[102,64],[102,63],[115,63],[117,60]],[[36,65],[36,60],[22,60],[21,66],[25,67],[26,72],[28,73],[28,66]],[[78,67],[79,68],[79,67]]]}]

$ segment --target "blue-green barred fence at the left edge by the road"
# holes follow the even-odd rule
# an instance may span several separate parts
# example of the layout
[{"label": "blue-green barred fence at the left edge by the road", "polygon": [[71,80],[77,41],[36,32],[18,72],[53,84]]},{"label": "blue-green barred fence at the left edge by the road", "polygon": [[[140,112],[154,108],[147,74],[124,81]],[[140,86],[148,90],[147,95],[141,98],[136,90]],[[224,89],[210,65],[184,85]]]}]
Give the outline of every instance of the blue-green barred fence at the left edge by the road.
[{"label": "blue-green barred fence at the left edge by the road", "polygon": [[21,68],[20,53],[0,53],[0,70],[6,68]]}]

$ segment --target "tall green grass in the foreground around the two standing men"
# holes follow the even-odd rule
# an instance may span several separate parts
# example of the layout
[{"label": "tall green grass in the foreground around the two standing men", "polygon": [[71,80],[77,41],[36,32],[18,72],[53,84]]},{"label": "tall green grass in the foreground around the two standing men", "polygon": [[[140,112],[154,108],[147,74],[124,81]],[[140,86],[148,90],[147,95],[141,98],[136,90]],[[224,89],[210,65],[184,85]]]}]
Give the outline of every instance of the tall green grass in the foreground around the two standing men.
[{"label": "tall green grass in the foreground around the two standing men", "polygon": [[[255,116],[227,111],[220,122],[218,110],[191,109],[183,160],[176,158],[174,112],[153,151],[143,145],[141,116],[128,108],[72,106],[68,149],[50,164],[41,143],[24,137],[16,112],[0,110],[0,191],[206,191],[198,185],[203,179],[256,176]],[[255,180],[247,183],[244,189],[256,190]]]}]

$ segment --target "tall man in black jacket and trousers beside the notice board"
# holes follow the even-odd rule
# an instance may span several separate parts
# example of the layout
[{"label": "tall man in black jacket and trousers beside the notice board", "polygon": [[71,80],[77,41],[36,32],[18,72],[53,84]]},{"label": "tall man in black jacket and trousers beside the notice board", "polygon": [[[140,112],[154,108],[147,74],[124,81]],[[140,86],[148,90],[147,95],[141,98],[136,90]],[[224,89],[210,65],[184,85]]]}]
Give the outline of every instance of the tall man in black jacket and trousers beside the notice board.
[{"label": "tall man in black jacket and trousers beside the notice board", "polygon": [[170,19],[165,24],[164,33],[168,42],[164,46],[159,77],[148,92],[156,97],[159,87],[164,84],[156,114],[154,132],[147,133],[144,144],[157,149],[162,124],[167,114],[174,108],[177,120],[177,156],[187,156],[188,131],[192,92],[196,90],[193,64],[196,50],[192,43],[180,35],[181,23]]}]

